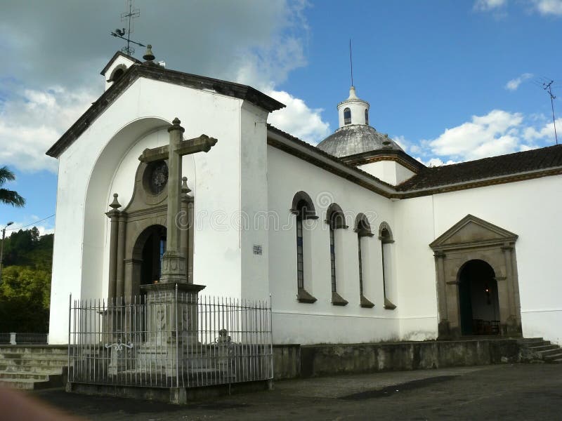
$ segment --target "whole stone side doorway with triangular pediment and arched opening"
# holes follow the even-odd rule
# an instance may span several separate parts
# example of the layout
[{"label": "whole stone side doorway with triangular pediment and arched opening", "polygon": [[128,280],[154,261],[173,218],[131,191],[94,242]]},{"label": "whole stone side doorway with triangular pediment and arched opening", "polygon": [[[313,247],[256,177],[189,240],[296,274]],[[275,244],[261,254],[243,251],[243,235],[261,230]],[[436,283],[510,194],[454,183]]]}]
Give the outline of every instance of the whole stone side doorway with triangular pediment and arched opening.
[{"label": "whole stone side doorway with triangular pediment and arched opening", "polygon": [[436,264],[440,339],[521,336],[517,238],[466,215],[429,245]]}]

